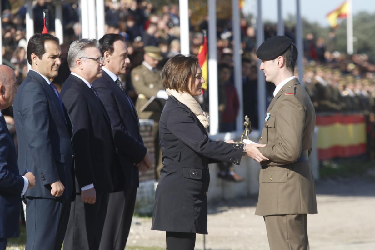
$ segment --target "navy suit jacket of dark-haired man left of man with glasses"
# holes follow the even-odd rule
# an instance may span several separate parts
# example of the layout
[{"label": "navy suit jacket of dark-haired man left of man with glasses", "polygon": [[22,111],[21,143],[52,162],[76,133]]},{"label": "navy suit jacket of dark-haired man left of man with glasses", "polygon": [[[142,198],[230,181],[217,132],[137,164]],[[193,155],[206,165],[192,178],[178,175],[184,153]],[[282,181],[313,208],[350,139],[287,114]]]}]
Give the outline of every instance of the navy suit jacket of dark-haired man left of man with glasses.
[{"label": "navy suit jacket of dark-haired man left of man with glasses", "polygon": [[[35,175],[35,187],[24,197],[74,199],[72,124],[68,112],[41,75],[29,70],[13,103],[18,140],[18,167]],[[60,180],[62,196],[51,195],[51,183]]]}]

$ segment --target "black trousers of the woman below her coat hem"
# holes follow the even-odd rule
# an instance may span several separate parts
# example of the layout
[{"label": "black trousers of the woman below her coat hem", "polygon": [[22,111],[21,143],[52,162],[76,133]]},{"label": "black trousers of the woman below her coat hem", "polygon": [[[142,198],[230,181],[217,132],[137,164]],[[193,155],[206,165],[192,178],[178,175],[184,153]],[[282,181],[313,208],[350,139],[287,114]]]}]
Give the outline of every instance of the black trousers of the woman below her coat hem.
[{"label": "black trousers of the woman below her coat hem", "polygon": [[194,250],[195,233],[165,232],[166,250]]}]

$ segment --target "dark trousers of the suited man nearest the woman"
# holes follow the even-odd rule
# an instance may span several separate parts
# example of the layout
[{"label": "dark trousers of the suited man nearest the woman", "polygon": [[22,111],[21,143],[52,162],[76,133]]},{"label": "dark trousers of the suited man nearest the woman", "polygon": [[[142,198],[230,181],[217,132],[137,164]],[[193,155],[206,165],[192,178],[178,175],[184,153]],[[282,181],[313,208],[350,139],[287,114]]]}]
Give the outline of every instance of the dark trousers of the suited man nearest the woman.
[{"label": "dark trousers of the suited man nearest the woman", "polygon": [[124,250],[132,224],[137,187],[110,193],[100,250]]}]

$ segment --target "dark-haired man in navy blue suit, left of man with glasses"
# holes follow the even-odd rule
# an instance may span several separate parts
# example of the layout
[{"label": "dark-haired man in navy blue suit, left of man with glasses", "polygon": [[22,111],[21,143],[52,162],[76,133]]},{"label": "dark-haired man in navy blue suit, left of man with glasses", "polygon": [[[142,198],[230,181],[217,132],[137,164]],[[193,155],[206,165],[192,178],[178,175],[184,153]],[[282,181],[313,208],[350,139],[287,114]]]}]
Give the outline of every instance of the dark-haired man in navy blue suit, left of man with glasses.
[{"label": "dark-haired man in navy blue suit, left of man with glasses", "polygon": [[18,88],[14,120],[20,172],[33,172],[27,190],[26,249],[56,249],[63,244],[74,198],[72,124],[56,87],[61,49],[56,37],[35,34],[27,45],[31,70]]}]

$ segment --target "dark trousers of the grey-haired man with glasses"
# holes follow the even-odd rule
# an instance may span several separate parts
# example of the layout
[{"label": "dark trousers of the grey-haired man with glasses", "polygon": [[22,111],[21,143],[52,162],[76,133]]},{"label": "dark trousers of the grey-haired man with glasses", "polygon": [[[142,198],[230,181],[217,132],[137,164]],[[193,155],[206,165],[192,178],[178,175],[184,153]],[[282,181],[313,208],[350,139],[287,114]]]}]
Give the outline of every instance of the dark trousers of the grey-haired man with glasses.
[{"label": "dark trousers of the grey-haired man with glasses", "polygon": [[98,250],[109,193],[96,193],[94,204],[84,203],[81,195],[72,202],[64,250]]}]

